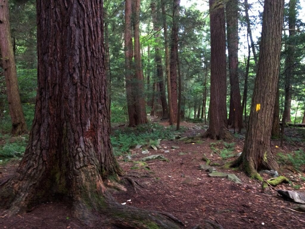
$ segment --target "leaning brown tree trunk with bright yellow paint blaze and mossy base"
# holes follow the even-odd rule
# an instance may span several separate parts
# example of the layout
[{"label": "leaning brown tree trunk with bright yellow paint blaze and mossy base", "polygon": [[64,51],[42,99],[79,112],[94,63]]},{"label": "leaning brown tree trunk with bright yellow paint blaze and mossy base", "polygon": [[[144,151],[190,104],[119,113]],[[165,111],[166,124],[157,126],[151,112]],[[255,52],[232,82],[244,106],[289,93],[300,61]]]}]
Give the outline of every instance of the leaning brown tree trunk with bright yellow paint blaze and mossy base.
[{"label": "leaning brown tree trunk with bright yellow paint blaze and mossy base", "polygon": [[242,155],[231,165],[259,180],[260,169],[279,168],[271,150],[271,128],[278,84],[284,0],[264,3],[262,37],[257,77],[252,96],[249,127]]}]

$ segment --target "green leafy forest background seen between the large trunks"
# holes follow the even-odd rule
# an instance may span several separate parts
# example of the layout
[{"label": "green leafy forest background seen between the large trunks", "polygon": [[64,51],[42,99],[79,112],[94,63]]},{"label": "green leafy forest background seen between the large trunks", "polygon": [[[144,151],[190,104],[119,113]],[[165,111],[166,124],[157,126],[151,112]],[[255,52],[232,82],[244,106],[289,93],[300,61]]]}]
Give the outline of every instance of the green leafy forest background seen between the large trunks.
[{"label": "green leafy forest background seen between the large trunks", "polygon": [[[162,4],[163,2],[163,8]],[[189,7],[178,6],[179,13],[174,15],[172,1],[141,1],[139,14],[139,42],[143,75],[143,92],[145,97],[146,114],[168,118],[164,113],[167,106],[168,90],[166,80],[166,58],[164,43],[169,48],[172,43],[171,33],[178,27],[178,56],[181,75],[181,119],[191,120],[202,118],[202,122],[209,120],[210,105],[210,17],[206,7],[196,3]],[[289,25],[291,12],[289,4],[295,4],[294,27]],[[179,5],[179,2],[176,2]],[[9,1],[10,26],[13,51],[16,60],[18,84],[23,113],[28,129],[34,117],[34,107],[37,88],[37,31],[35,1]],[[238,54],[238,78],[242,99],[243,123],[246,125],[249,117],[251,96],[253,94],[256,76],[257,57],[259,56],[260,37],[253,31],[262,23],[261,2],[255,5],[247,1],[239,1],[238,29],[239,49],[248,49],[249,53]],[[188,4],[189,5],[189,4]],[[247,7],[246,7],[247,6]],[[279,78],[278,116],[282,120],[284,115],[285,98],[288,101],[287,122],[305,123],[304,76],[305,76],[305,35],[302,16],[299,15],[300,2],[286,2],[284,12],[284,28],[282,36],[281,69]],[[112,123],[128,122],[128,107],[125,81],[124,30],[125,30],[124,1],[105,1],[105,47],[108,91]],[[163,10],[163,13],[162,13]],[[290,14],[289,14],[290,12]],[[290,15],[290,16],[289,16]],[[164,18],[164,16],[166,16]],[[229,15],[227,13],[227,20]],[[164,19],[168,25],[167,39],[164,38]],[[291,19],[290,19],[291,20]],[[291,24],[291,21],[290,21]],[[248,30],[248,34],[247,31]],[[251,44],[251,31],[254,42]],[[292,33],[293,32],[293,33]],[[245,35],[246,33],[246,35]],[[291,35],[292,34],[292,35]],[[257,42],[255,42],[257,40]],[[248,44],[245,43],[248,41]],[[165,43],[166,44],[166,43]],[[246,46],[246,47],[245,47]],[[248,47],[247,47],[248,46]],[[293,46],[293,67],[289,67],[289,47]],[[157,55],[158,54],[158,55]],[[157,57],[160,59],[157,59]],[[172,59],[172,56],[170,56]],[[248,61],[249,58],[249,61]],[[228,59],[228,56],[227,56]],[[288,63],[288,65],[287,65]],[[288,67],[287,67],[288,66]],[[227,64],[227,111],[230,124],[230,78],[229,64]],[[289,69],[289,86],[287,89],[287,72]],[[0,127],[2,134],[12,129],[6,95],[4,74],[0,68]],[[161,71],[161,72],[160,72]],[[160,78],[162,77],[162,78]],[[133,79],[132,84],[137,85]],[[163,88],[162,88],[163,87]],[[287,94],[287,90],[289,93]],[[178,92],[178,90],[177,90]],[[173,93],[173,92],[172,92]],[[285,94],[286,93],[286,94]],[[163,106],[162,106],[163,105]],[[162,109],[163,107],[163,109]],[[177,109],[177,108],[175,108]],[[176,115],[176,114],[175,114]],[[232,123],[231,123],[232,124]]]}]

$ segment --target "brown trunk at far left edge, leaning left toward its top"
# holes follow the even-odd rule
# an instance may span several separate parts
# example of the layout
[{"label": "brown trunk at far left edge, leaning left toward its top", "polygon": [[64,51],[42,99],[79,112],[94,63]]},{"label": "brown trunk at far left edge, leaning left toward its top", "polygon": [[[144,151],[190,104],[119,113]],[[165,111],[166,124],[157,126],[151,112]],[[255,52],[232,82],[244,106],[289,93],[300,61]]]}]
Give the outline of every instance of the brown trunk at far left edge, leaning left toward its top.
[{"label": "brown trunk at far left edge, leaning left toward its top", "polygon": [[0,0],[0,6],[0,51],[9,103],[9,115],[12,120],[12,134],[21,135],[27,131],[27,126],[20,102],[15,57],[9,27],[8,1]]}]

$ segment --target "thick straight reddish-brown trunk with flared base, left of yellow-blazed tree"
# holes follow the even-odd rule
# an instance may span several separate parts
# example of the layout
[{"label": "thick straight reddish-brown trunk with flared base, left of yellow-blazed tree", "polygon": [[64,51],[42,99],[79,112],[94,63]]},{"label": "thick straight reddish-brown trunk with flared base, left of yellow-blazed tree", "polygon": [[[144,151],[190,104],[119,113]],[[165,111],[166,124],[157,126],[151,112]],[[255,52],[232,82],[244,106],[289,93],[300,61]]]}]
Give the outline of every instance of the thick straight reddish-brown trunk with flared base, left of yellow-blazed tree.
[{"label": "thick straight reddish-brown trunk with flared base, left of yellow-blazed tree", "polygon": [[211,99],[210,125],[206,136],[212,139],[232,139],[228,129],[226,107],[226,38],[224,5],[210,0],[211,31]]}]

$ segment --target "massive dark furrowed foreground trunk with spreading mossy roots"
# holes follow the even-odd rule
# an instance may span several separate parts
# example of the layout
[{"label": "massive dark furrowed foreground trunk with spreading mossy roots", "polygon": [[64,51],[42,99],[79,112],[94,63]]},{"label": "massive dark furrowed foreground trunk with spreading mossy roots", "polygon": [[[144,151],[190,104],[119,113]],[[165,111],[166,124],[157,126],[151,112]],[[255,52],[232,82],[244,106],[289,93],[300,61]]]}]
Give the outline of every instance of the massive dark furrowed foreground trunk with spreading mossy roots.
[{"label": "massive dark furrowed foreground trunk with spreading mossy roots", "polygon": [[54,196],[74,216],[116,228],[179,228],[160,213],[114,202],[103,178],[122,173],[109,140],[101,0],[37,1],[38,91],[29,144],[0,185],[13,215]]}]

